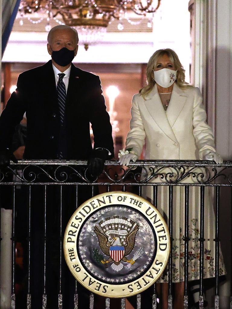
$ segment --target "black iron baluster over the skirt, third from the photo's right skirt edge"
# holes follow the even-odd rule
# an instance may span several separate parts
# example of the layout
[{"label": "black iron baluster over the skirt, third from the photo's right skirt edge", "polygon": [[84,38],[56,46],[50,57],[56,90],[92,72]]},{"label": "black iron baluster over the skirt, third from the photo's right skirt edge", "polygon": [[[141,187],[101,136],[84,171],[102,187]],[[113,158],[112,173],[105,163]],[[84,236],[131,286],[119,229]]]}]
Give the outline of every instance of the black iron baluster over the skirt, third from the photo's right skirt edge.
[{"label": "black iron baluster over the skirt, third from the photo's right skirt edge", "polygon": [[184,309],[188,309],[188,213],[189,186],[184,187]]}]

